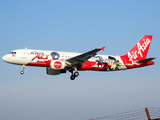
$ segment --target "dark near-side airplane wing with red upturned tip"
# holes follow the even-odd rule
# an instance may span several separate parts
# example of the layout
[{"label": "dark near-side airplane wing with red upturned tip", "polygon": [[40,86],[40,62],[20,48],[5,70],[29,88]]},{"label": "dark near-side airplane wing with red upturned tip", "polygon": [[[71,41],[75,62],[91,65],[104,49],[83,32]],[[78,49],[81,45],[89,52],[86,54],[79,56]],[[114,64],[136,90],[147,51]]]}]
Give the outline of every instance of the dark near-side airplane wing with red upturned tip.
[{"label": "dark near-side airplane wing with red upturned tip", "polygon": [[89,52],[80,54],[78,56],[72,57],[67,59],[66,61],[72,63],[72,64],[83,64],[84,61],[87,61],[88,59],[94,57],[95,55],[97,55],[96,53],[99,52],[100,50],[104,51],[105,47],[102,48],[96,48],[94,50],[91,50]]}]

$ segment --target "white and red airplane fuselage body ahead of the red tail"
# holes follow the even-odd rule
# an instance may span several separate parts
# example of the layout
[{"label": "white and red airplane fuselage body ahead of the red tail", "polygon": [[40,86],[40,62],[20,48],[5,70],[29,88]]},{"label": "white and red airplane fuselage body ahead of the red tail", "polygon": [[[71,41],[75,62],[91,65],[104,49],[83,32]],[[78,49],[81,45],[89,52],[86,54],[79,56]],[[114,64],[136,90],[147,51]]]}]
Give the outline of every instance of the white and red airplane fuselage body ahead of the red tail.
[{"label": "white and red airplane fuselage body ahead of the red tail", "polygon": [[[53,56],[51,56],[51,53],[53,52],[57,53],[57,56],[56,56],[57,58],[53,58]],[[51,61],[56,61],[56,60],[66,61],[67,59],[75,57],[80,54],[82,53],[34,50],[34,49],[18,49],[18,50],[13,50],[9,54],[5,55],[2,59],[5,62],[16,64],[16,65],[50,67]],[[109,56],[112,58],[108,59]],[[101,60],[101,63],[98,64],[98,61],[100,62],[100,57],[103,58],[103,61]],[[120,56],[111,56],[111,55],[96,55],[95,57],[88,59],[88,61],[85,61],[83,65],[80,65],[77,68],[78,70],[102,70],[103,71],[102,68],[105,66],[105,63],[106,63],[106,64],[109,64],[110,65],[109,67],[112,67],[112,68],[105,71],[110,71],[110,70],[115,70],[116,61],[119,61],[119,63],[121,64],[119,67],[119,70],[127,69]],[[70,68],[68,67],[66,69],[70,69]]]}]

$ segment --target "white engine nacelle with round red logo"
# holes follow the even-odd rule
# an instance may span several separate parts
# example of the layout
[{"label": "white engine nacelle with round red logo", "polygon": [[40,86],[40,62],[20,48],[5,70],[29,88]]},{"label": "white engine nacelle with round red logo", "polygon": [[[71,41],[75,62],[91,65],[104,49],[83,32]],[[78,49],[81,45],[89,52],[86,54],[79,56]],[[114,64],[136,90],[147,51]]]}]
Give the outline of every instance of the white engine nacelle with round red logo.
[{"label": "white engine nacelle with round red logo", "polygon": [[51,60],[51,62],[50,62],[51,69],[62,70],[65,67],[66,67],[65,61]]}]

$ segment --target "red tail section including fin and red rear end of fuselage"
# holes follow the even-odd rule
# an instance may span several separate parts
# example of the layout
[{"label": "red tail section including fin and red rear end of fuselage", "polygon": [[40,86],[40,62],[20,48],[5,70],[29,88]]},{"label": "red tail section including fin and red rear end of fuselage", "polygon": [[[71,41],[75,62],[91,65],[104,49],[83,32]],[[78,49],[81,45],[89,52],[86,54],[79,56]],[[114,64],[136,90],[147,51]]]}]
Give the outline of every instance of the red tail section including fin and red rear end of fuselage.
[{"label": "red tail section including fin and red rear end of fuselage", "polygon": [[149,61],[155,58],[146,59],[152,37],[152,35],[145,35],[126,55],[121,56],[121,59],[123,60],[127,68],[135,68],[140,63],[146,64],[148,62],[147,65],[154,64],[153,61]]}]

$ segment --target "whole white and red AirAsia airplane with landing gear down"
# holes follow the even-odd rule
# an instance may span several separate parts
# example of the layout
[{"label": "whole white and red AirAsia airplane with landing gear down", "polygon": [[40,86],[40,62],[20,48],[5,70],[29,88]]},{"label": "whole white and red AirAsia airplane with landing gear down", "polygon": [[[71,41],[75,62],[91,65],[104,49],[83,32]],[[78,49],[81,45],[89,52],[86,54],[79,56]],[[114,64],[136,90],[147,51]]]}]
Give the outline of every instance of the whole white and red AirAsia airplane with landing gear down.
[{"label": "whole white and red AirAsia airplane with landing gear down", "polygon": [[86,53],[60,52],[34,49],[13,50],[2,57],[3,61],[25,66],[46,67],[48,75],[71,72],[70,79],[79,76],[78,71],[119,71],[153,65],[155,58],[147,58],[152,35],[145,35],[127,54],[122,56],[97,55],[105,47],[96,48]]}]

